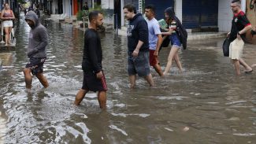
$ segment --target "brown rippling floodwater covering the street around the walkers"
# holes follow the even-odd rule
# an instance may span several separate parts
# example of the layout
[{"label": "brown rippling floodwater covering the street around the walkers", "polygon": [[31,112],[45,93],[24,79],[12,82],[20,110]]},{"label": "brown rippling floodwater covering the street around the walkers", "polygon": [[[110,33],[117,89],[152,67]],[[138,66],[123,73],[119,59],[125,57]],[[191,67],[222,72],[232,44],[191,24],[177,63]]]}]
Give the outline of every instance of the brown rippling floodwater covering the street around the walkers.
[{"label": "brown rippling floodwater covering the street around the walkers", "polygon": [[[34,77],[32,94],[24,90],[30,30],[24,20],[16,50],[0,50],[11,55],[0,70],[0,143],[256,143],[256,72],[236,76],[223,57],[223,39],[189,41],[180,50],[183,74],[175,64],[165,78],[152,69],[157,87],[139,78],[131,90],[126,37],[101,35],[109,89],[102,112],[95,93],[72,105],[83,82],[83,31],[43,24],[50,39],[44,65],[49,88]],[[160,52],[163,69],[169,50]],[[256,63],[255,45],[243,52],[248,64]]]}]

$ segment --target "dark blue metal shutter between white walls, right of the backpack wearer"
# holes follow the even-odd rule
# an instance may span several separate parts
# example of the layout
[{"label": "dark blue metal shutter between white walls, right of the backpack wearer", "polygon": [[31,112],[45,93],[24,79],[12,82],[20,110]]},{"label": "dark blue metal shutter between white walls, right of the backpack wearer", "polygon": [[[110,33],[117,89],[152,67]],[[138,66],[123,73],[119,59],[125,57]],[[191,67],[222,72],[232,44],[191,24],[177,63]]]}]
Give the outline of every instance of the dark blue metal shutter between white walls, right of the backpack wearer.
[{"label": "dark blue metal shutter between white walls, right of the backpack wearer", "polygon": [[217,0],[183,0],[182,24],[185,28],[217,26]]}]

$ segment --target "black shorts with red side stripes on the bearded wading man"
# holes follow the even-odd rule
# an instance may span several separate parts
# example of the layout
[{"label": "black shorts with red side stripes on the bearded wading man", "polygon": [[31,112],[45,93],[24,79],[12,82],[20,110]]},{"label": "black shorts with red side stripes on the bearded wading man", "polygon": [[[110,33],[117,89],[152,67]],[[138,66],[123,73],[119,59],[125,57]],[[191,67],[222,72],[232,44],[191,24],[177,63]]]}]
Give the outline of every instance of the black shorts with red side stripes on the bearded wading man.
[{"label": "black shorts with red side stripes on the bearded wading man", "polygon": [[102,79],[97,79],[95,73],[83,72],[83,90],[91,90],[91,91],[106,91],[106,78],[103,74]]}]

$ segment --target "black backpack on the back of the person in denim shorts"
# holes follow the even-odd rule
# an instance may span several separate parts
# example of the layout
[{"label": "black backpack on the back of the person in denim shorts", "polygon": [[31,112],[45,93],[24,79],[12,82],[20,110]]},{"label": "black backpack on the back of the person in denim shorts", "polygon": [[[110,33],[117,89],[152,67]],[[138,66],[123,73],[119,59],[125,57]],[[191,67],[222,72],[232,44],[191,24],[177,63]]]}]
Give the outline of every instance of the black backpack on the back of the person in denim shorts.
[{"label": "black backpack on the back of the person in denim shorts", "polygon": [[179,35],[180,42],[182,43],[183,49],[186,50],[187,49],[187,31],[184,28],[184,26],[181,24],[178,17],[175,17],[175,21],[177,25],[176,32]]}]

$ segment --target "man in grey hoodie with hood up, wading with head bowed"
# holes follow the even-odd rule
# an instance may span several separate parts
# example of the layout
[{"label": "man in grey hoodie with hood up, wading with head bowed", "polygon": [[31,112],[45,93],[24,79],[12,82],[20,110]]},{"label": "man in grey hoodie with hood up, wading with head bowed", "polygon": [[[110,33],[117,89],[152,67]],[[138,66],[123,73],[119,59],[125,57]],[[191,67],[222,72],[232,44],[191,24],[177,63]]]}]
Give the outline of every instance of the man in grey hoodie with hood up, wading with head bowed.
[{"label": "man in grey hoodie with hood up, wading with head bowed", "polygon": [[32,28],[29,32],[28,50],[29,57],[28,64],[24,68],[24,76],[26,88],[32,88],[32,75],[35,75],[43,87],[48,87],[49,84],[45,76],[43,76],[43,63],[46,61],[46,46],[48,44],[48,35],[46,28],[40,24],[39,18],[33,11],[29,11],[25,20]]}]

